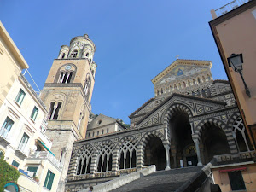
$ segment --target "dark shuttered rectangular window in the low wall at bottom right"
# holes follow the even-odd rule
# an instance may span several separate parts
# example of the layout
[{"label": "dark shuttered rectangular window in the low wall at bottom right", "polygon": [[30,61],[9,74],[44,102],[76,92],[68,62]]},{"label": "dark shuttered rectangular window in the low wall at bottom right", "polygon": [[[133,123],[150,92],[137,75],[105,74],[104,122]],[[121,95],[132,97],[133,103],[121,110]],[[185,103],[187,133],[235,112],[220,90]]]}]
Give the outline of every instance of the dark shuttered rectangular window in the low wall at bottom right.
[{"label": "dark shuttered rectangular window in the low wall at bottom right", "polygon": [[230,178],[230,185],[232,190],[246,190],[241,171],[228,172]]}]

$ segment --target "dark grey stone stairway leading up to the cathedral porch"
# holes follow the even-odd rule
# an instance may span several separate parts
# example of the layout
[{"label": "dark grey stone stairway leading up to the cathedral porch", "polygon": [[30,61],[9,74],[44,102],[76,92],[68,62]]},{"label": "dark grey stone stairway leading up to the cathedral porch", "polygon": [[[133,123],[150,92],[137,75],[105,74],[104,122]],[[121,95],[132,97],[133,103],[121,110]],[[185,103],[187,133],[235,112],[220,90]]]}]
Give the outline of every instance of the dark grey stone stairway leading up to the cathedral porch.
[{"label": "dark grey stone stairway leading up to the cathedral porch", "polygon": [[175,191],[183,185],[190,177],[193,177],[196,172],[201,170],[202,166],[193,166],[169,171],[158,171],[148,176],[141,177],[131,183],[127,183],[118,189],[113,189],[113,192],[145,192],[145,191]]}]

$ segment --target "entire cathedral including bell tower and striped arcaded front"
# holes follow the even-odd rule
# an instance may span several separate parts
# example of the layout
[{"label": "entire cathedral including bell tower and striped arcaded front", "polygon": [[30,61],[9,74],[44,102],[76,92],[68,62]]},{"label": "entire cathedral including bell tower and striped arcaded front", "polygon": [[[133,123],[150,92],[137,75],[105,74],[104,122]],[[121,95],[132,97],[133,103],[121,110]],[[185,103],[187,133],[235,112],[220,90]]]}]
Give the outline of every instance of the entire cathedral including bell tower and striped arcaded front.
[{"label": "entire cathedral including bell tower and striped arcaded front", "polygon": [[91,113],[95,44],[88,35],[62,46],[41,91],[49,112],[46,135],[63,164],[58,191],[79,191],[145,166],[170,170],[230,160],[250,150],[230,84],[213,80],[211,61],[177,59],[152,79],[154,98],[131,126]]}]

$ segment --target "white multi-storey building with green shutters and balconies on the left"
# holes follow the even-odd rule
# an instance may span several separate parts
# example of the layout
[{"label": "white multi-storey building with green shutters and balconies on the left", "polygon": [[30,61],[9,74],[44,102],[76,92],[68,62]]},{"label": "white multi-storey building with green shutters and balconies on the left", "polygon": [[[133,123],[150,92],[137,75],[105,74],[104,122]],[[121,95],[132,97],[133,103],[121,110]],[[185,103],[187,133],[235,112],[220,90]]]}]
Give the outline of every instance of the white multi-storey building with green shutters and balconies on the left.
[{"label": "white multi-storey building with green shutters and balconies on the left", "polygon": [[[28,67],[26,61],[1,23],[0,28],[4,40],[0,44],[0,64],[7,69],[1,71],[1,77],[10,75],[5,79],[8,89],[3,89],[7,93],[0,107],[0,156],[4,155],[4,160],[22,173],[17,182],[20,191],[56,191],[62,165],[50,152],[52,142],[45,135],[48,112],[21,74],[22,68]],[[1,83],[6,82],[1,79]]]}]

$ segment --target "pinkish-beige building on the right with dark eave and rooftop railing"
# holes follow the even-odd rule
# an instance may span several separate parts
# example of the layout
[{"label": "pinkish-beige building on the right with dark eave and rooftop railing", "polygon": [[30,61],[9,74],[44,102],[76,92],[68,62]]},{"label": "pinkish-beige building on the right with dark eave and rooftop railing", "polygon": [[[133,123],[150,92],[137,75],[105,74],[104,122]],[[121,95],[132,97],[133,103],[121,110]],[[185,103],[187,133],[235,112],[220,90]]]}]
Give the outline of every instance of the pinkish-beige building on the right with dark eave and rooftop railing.
[{"label": "pinkish-beige building on the right with dark eave and rooftop railing", "polygon": [[[256,146],[256,83],[254,61],[256,32],[256,2],[255,1],[232,1],[220,9],[212,10],[212,21],[209,22],[212,35],[218,47],[219,55],[223,61],[225,71],[234,95],[238,108],[241,111],[249,137],[253,146]],[[247,30],[244,30],[247,29]],[[247,96],[245,85],[239,73],[229,67],[227,58],[231,54],[242,54],[244,80],[251,92]]]}]

